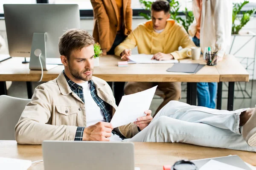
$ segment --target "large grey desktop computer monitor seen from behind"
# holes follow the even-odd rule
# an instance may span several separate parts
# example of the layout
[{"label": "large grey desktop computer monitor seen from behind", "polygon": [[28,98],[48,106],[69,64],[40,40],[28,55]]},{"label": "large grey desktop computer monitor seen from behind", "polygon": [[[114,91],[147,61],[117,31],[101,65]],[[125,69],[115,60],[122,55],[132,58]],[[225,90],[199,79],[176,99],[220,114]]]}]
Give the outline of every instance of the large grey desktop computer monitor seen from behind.
[{"label": "large grey desktop computer monitor seen from behind", "polygon": [[36,49],[40,49],[44,70],[47,70],[46,58],[60,57],[58,40],[61,34],[71,28],[80,28],[77,4],[4,4],[3,10],[9,54],[11,57],[31,57],[30,69],[41,70]]}]

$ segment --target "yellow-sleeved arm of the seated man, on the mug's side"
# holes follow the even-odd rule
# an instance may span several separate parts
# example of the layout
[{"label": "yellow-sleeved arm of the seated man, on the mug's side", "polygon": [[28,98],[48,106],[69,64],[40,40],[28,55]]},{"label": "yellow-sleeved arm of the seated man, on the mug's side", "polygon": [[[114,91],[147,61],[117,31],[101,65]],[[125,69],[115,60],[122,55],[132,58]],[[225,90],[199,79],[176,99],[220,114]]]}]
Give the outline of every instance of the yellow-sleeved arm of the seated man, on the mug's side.
[{"label": "yellow-sleeved arm of the seated man, on the mug's side", "polygon": [[191,40],[191,38],[189,38],[189,34],[186,32],[186,30],[183,26],[180,27],[178,34],[179,34],[179,40],[180,40],[179,45],[183,49],[180,51],[174,51],[170,54],[172,54],[174,59],[184,59],[186,57],[189,57],[189,56],[187,56],[186,53],[191,47],[195,47],[195,44]]}]

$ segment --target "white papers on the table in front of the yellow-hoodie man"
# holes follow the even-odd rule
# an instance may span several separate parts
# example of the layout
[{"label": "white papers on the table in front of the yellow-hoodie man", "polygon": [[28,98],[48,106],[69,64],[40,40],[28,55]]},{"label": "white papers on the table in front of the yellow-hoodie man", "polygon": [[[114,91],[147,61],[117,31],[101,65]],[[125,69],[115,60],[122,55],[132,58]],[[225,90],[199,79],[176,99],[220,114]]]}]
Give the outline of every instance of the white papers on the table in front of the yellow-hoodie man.
[{"label": "white papers on the table in front of the yellow-hoodie man", "polygon": [[136,63],[176,63],[179,62],[177,59],[170,59],[170,60],[162,60],[158,61],[156,59],[151,59],[153,55],[148,54],[134,54],[129,56],[130,61],[128,63],[131,63],[131,61]]}]

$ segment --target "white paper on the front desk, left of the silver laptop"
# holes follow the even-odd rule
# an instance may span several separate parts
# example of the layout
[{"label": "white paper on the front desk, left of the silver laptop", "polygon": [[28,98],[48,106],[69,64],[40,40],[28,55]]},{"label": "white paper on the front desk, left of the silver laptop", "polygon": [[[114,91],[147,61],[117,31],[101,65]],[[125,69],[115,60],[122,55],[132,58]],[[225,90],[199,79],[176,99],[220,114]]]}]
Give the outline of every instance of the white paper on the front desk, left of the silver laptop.
[{"label": "white paper on the front desk, left of the silver laptop", "polygon": [[27,170],[31,164],[30,160],[0,157],[0,170]]}]

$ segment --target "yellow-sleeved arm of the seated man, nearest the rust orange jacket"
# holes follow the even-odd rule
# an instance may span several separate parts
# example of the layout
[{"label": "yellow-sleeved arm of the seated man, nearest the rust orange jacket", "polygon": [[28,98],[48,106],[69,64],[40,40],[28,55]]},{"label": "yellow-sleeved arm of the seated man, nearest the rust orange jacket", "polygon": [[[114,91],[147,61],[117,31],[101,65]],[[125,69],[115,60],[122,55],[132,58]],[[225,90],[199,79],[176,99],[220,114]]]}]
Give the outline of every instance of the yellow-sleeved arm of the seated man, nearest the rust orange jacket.
[{"label": "yellow-sleeved arm of the seated man, nearest the rust orange jacket", "polygon": [[115,48],[115,55],[120,57],[120,54],[125,49],[132,49],[137,46],[136,36],[138,35],[139,27],[137,27],[125,40]]}]

